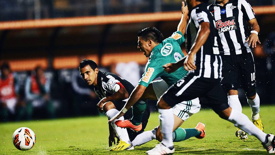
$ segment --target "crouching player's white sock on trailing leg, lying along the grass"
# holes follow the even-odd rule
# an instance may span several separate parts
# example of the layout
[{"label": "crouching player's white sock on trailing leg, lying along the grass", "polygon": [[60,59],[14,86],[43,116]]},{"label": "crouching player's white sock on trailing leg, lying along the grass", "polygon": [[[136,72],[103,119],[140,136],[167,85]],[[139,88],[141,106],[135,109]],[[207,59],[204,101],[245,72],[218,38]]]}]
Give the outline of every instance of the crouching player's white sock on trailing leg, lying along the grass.
[{"label": "crouching player's white sock on trailing leg, lying along the grass", "polygon": [[156,139],[156,129],[158,127],[154,128],[153,130],[142,132],[141,134],[137,135],[135,139],[132,141],[133,146],[140,146],[143,145],[153,139]]}]

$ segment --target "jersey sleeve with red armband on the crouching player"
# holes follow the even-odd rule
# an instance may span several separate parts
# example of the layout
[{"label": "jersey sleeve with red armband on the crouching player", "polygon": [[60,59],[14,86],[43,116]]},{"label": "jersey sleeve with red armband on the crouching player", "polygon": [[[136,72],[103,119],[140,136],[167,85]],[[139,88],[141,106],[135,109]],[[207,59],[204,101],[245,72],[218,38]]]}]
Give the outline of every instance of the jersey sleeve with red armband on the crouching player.
[{"label": "jersey sleeve with red armband on the crouching player", "polygon": [[119,91],[120,88],[124,88],[124,86],[120,83],[119,80],[115,79],[112,76],[107,75],[106,82],[102,82],[102,87],[104,90],[110,92],[111,94],[116,93]]}]

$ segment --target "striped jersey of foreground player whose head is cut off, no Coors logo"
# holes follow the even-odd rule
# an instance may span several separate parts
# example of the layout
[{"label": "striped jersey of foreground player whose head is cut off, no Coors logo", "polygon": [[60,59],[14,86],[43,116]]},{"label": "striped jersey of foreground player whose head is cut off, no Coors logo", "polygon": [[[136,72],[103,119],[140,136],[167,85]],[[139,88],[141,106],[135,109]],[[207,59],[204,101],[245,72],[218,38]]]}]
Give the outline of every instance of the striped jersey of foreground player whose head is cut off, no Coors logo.
[{"label": "striped jersey of foreground player whose head is cut off, no Coors logo", "polygon": [[222,59],[218,50],[215,20],[211,12],[207,10],[206,3],[195,6],[191,11],[186,27],[186,50],[187,52],[190,51],[199,31],[199,25],[203,22],[210,23],[210,34],[204,45],[196,53],[195,64],[197,69],[194,73],[198,77],[218,79],[222,74]]}]

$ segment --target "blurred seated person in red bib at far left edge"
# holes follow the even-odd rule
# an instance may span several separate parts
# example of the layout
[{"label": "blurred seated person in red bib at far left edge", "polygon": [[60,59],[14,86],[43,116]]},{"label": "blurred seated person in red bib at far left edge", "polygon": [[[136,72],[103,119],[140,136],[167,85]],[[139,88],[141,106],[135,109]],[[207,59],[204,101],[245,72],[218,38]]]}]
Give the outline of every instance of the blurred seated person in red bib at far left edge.
[{"label": "blurred seated person in red bib at far left edge", "polygon": [[[0,109],[1,121],[8,121],[11,117],[16,116],[17,120],[21,118],[22,106],[24,102],[20,100],[19,86],[17,84],[16,75],[12,74],[8,63],[1,65],[0,77]],[[16,113],[16,106],[18,113]]]}]

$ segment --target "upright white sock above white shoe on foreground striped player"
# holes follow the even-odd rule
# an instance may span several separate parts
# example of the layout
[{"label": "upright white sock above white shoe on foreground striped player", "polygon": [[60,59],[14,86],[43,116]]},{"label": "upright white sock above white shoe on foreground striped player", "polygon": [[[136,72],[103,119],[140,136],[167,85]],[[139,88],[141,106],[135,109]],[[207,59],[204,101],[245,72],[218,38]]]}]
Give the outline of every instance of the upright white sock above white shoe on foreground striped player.
[{"label": "upright white sock above white shoe on foreground striped player", "polygon": [[174,115],[172,108],[159,109],[159,123],[163,134],[162,144],[166,147],[174,146],[172,139],[174,126]]}]

